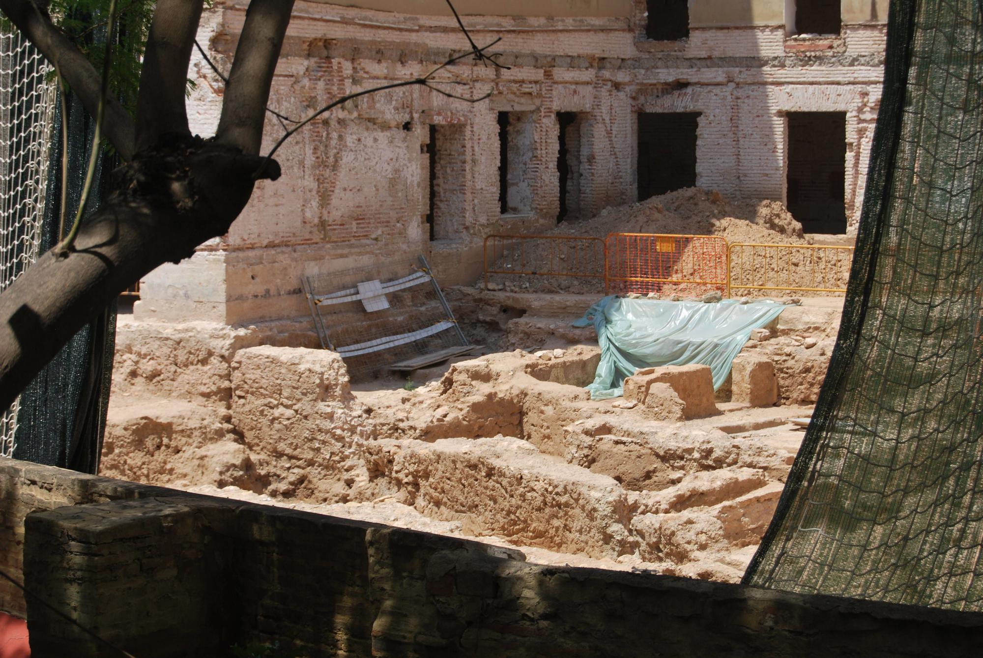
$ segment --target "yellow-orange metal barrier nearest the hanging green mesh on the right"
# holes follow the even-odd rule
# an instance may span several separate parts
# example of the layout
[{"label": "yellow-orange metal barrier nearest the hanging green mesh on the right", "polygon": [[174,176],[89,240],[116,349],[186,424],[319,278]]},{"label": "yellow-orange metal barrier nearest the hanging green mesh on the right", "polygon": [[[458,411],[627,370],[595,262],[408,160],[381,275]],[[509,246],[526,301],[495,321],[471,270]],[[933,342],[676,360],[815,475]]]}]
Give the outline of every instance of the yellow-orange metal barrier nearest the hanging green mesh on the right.
[{"label": "yellow-orange metal barrier nearest the hanging green mesh on the right", "polygon": [[730,290],[845,293],[853,247],[822,245],[730,246]]}]

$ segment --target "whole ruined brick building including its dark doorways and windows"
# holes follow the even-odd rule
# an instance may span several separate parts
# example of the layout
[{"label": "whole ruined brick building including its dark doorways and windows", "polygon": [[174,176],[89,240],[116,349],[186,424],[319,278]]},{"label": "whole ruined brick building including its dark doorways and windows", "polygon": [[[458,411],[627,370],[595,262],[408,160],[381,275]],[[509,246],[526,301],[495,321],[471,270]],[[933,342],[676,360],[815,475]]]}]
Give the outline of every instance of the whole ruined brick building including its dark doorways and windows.
[{"label": "whole ruined brick building including its dark doorways and windows", "polygon": [[[227,71],[245,8],[199,42]],[[307,313],[300,277],[428,256],[472,283],[492,232],[537,233],[688,186],[785,201],[806,232],[855,230],[877,115],[888,0],[457,0],[508,69],[465,59],[355,99],[278,151],[227,236],[145,278],[137,319],[229,324]],[[404,13],[412,10],[412,13]],[[467,41],[443,0],[297,3],[271,106],[298,119],[426,74]],[[199,57],[193,130],[222,83]],[[282,128],[267,121],[268,147]],[[381,272],[384,275],[384,272]]]}]

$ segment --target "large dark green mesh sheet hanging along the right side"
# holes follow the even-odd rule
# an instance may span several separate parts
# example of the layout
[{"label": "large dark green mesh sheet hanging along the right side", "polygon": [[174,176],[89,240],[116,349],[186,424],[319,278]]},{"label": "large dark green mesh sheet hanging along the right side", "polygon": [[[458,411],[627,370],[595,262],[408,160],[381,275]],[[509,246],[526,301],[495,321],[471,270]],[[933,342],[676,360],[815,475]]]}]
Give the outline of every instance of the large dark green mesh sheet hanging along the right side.
[{"label": "large dark green mesh sheet hanging along the right side", "polygon": [[983,610],[983,16],[895,0],[837,349],[744,581]]}]

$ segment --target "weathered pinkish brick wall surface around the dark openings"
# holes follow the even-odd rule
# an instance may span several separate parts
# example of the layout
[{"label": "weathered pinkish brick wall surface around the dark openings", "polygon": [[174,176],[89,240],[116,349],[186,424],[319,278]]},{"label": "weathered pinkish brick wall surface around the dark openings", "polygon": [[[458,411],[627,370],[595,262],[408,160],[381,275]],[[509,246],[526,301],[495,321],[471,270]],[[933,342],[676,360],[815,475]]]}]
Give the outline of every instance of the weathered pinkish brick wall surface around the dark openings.
[{"label": "weathered pinkish brick wall surface around the dark openings", "polygon": [[[223,70],[244,7],[229,0],[202,21],[199,41]],[[803,39],[766,20],[774,8],[730,27],[703,25],[694,10],[687,39],[657,42],[644,38],[644,8],[636,2],[629,17],[469,17],[479,41],[502,37],[496,49],[511,68],[465,61],[437,80],[465,82],[451,88],[490,98],[471,104],[406,87],[324,115],[278,152],[284,177],[258,186],[226,237],[145,279],[138,318],[237,324],[299,317],[307,313],[303,274],[377,265],[386,277],[405,270],[416,253],[430,257],[445,285],[471,283],[486,235],[555,225],[558,112],[577,113],[581,122],[576,202],[585,216],[635,200],[638,112],[699,113],[697,185],[775,199],[785,195],[784,113],[844,112],[844,203],[855,223],[880,100],[885,17],[869,6],[866,14],[846,8],[840,35]],[[306,116],[342,94],[420,76],[464,44],[449,17],[302,1],[271,104],[289,117]],[[208,135],[222,84],[201,58],[191,75],[198,82],[193,127]],[[503,215],[499,202],[501,112],[532,122],[521,182],[528,208],[518,214]],[[454,199],[437,203],[433,242],[432,125],[455,127],[444,153],[466,155],[445,162],[438,149],[438,169],[452,171],[456,185],[436,187]],[[281,133],[268,122],[266,145]]]}]

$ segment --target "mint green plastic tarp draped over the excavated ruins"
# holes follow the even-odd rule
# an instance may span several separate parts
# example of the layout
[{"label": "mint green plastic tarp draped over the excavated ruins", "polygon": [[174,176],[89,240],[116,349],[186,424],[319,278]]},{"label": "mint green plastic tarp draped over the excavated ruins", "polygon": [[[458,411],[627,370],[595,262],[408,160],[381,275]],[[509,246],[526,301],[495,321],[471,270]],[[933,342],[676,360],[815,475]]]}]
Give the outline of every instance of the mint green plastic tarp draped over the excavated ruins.
[{"label": "mint green plastic tarp draped over the excavated ruins", "polygon": [[[714,389],[730,373],[752,329],[764,327],[784,309],[779,302],[663,302],[606,297],[573,323],[592,323],[601,345],[601,363],[587,387],[594,400],[621,395],[621,382],[638,368],[709,365]],[[592,319],[593,318],[593,319]]]}]

